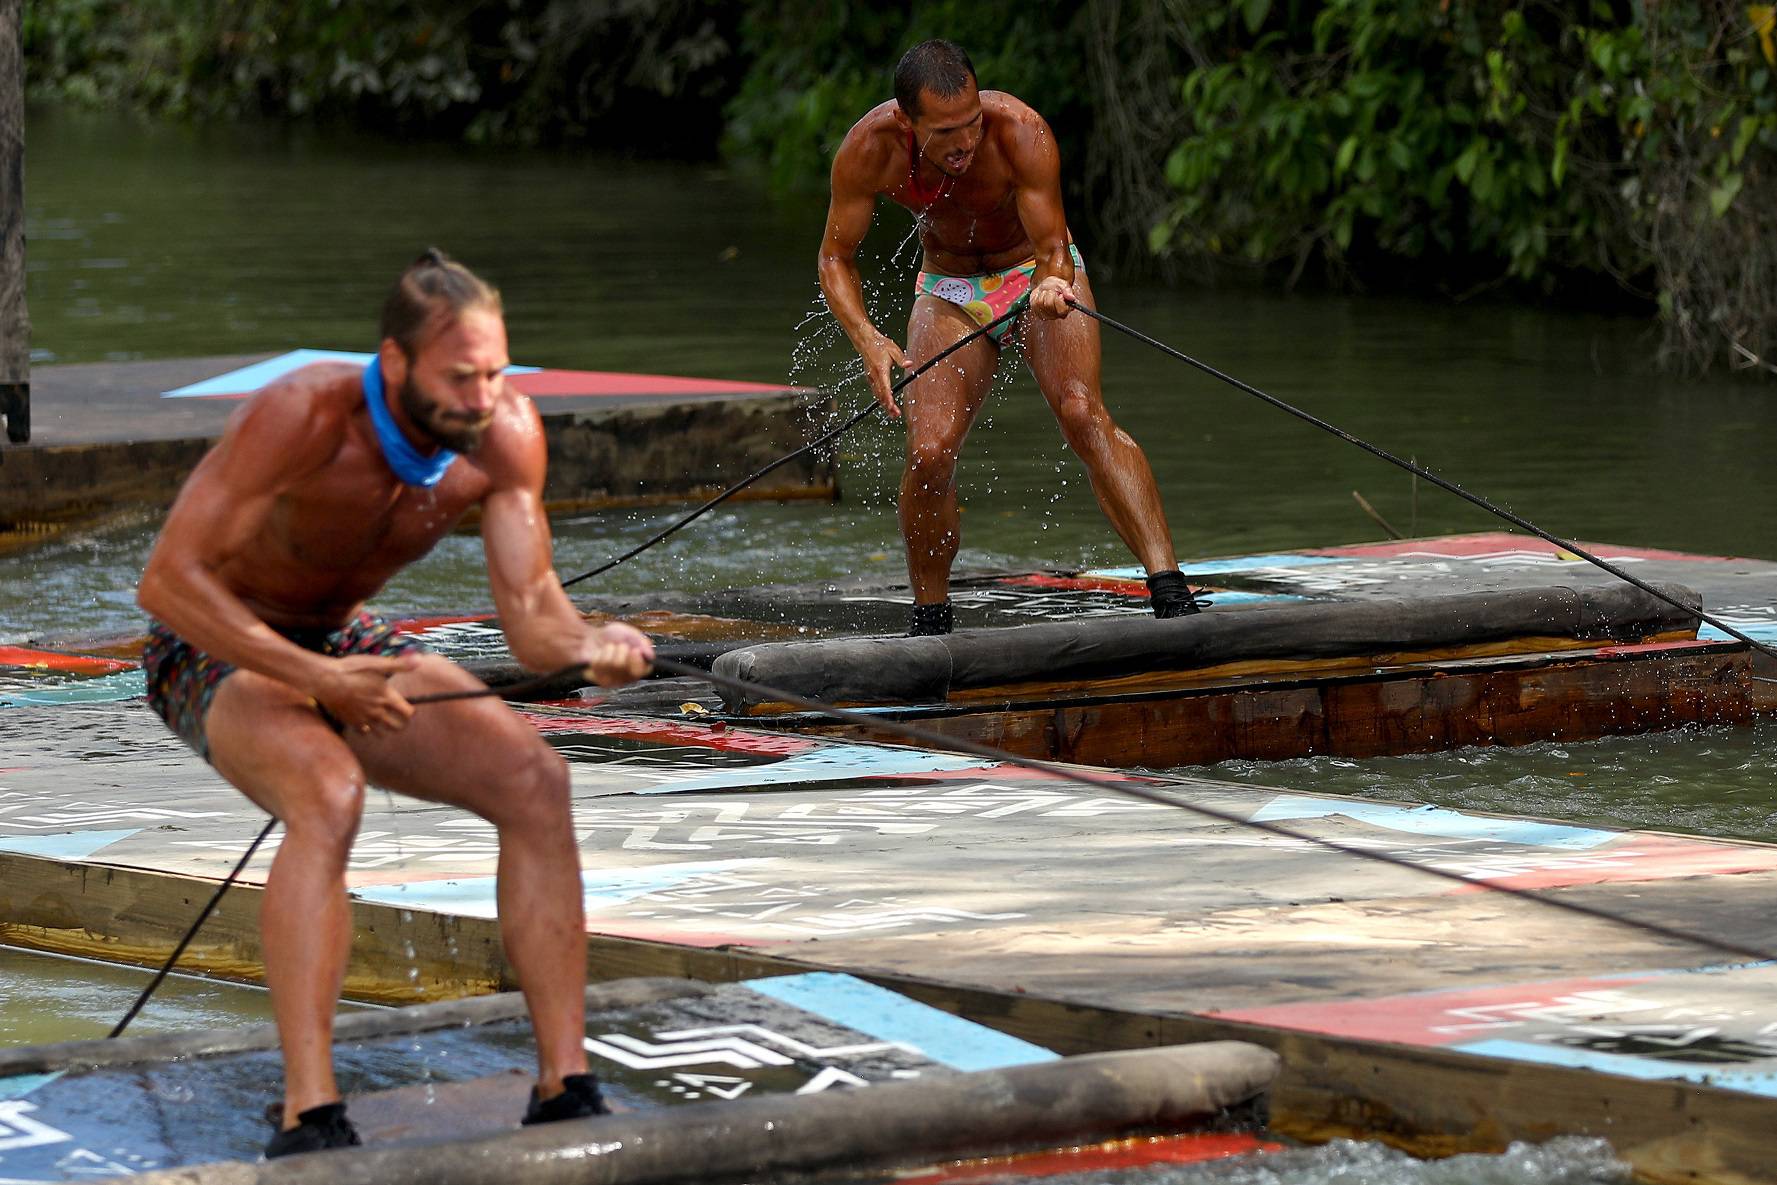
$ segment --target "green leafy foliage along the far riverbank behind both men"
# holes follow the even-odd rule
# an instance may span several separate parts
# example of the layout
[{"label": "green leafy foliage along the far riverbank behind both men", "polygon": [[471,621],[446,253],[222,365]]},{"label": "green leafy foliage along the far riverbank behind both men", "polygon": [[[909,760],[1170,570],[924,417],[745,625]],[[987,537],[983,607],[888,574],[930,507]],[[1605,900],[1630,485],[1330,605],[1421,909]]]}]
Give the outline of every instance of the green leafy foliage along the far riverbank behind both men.
[{"label": "green leafy foliage along the far riverbank behind both men", "polygon": [[[1098,258],[1621,286],[1777,373],[1777,7],[1745,0],[25,0],[37,96],[702,155],[819,187],[944,36]],[[1144,242],[1143,242],[1144,240]]]}]

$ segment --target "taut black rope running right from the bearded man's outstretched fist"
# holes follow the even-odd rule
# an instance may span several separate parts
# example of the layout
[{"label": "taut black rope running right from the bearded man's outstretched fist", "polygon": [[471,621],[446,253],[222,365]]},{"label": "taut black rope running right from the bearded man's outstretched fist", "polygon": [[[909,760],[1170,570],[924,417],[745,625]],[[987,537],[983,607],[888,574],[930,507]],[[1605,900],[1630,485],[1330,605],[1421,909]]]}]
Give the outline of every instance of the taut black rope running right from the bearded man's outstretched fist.
[{"label": "taut black rope running right from the bearded man's outstretched fist", "polygon": [[[1347,855],[1347,856],[1359,856],[1363,860],[1374,860],[1377,863],[1393,865],[1397,869],[1409,869],[1409,871],[1414,871],[1414,872],[1423,872],[1427,876],[1436,876],[1436,878],[1445,879],[1445,881],[1455,881],[1457,885],[1466,885],[1470,888],[1480,885],[1480,887],[1489,888],[1493,892],[1507,894],[1507,895],[1518,897],[1521,901],[1534,901],[1534,903],[1539,903],[1539,904],[1551,906],[1555,910],[1566,910],[1569,913],[1578,913],[1578,915],[1592,919],[1592,920],[1612,922],[1615,926],[1626,926],[1630,929],[1637,929],[1637,931],[1642,931],[1642,933],[1647,933],[1647,934],[1654,934],[1658,938],[1667,938],[1667,940],[1672,940],[1672,942],[1681,942],[1685,945],[1702,947],[1706,950],[1717,950],[1717,952],[1722,952],[1722,954],[1733,954],[1736,958],[1754,959],[1754,961],[1759,961],[1759,963],[1768,963],[1768,961],[1770,963],[1777,963],[1777,950],[1766,950],[1763,947],[1752,947],[1752,945],[1745,945],[1745,943],[1738,943],[1738,942],[1731,942],[1731,940],[1724,940],[1724,938],[1711,938],[1708,934],[1693,934],[1693,933],[1688,933],[1688,931],[1674,929],[1670,926],[1661,926],[1660,922],[1644,922],[1644,920],[1638,920],[1638,919],[1624,917],[1624,915],[1614,913],[1610,910],[1601,910],[1598,906],[1585,904],[1582,901],[1567,901],[1567,899],[1562,899],[1562,897],[1548,897],[1544,894],[1532,892],[1528,888],[1516,888],[1512,885],[1494,885],[1494,883],[1489,883],[1489,881],[1475,881],[1475,879],[1471,879],[1468,876],[1462,876],[1461,872],[1450,872],[1446,869],[1439,869],[1439,867],[1429,865],[1429,863],[1414,863],[1413,860],[1407,860],[1404,856],[1395,856],[1395,855],[1390,855],[1386,851],[1374,851],[1370,847],[1356,847],[1352,844],[1342,844],[1342,842],[1338,842],[1335,839],[1326,839],[1322,835],[1310,835],[1306,831],[1294,831],[1290,828],[1278,826],[1276,823],[1265,823],[1263,819],[1247,819],[1244,815],[1237,815],[1237,814],[1228,812],[1228,810],[1217,810],[1214,807],[1203,807],[1203,805],[1198,805],[1198,803],[1187,803],[1187,801],[1182,801],[1178,798],[1171,798],[1167,794],[1160,794],[1159,791],[1148,789],[1148,787],[1139,785],[1136,782],[1130,782],[1130,780],[1125,780],[1125,778],[1118,778],[1114,775],[1098,773],[1095,769],[1082,769],[1079,766],[1061,766],[1061,764],[1056,764],[1056,762],[1050,762],[1050,760],[1040,760],[1036,757],[1018,757],[1015,753],[1008,753],[1006,750],[993,748],[992,744],[981,744],[977,741],[968,741],[968,739],[963,739],[963,737],[945,736],[942,732],[933,732],[929,728],[920,728],[919,725],[908,725],[908,723],[903,723],[899,720],[883,720],[881,716],[876,716],[873,712],[858,712],[858,711],[853,711],[853,709],[848,709],[848,707],[835,707],[832,704],[823,704],[819,700],[810,700],[807,696],[800,696],[794,691],[784,691],[780,688],[766,688],[762,684],[748,682],[745,679],[732,679],[729,675],[718,675],[718,673],[707,672],[707,670],[704,670],[700,666],[689,666],[686,663],[675,663],[672,659],[656,657],[654,659],[654,670],[665,672],[668,675],[689,675],[693,679],[704,679],[704,680],[707,680],[707,682],[711,682],[711,684],[714,684],[718,688],[725,688],[729,691],[736,691],[736,693],[741,693],[741,695],[755,696],[755,698],[761,698],[761,700],[766,700],[766,702],[789,704],[793,707],[800,707],[800,709],[809,711],[809,712],[817,712],[821,716],[828,716],[832,720],[839,720],[839,721],[844,721],[848,725],[858,725],[858,727],[864,727],[864,728],[874,728],[878,732],[887,732],[890,736],[904,737],[908,741],[919,741],[920,744],[928,744],[928,746],[940,748],[940,750],[970,753],[974,757],[986,757],[990,760],[1004,762],[1008,766],[1020,766],[1024,769],[1034,769],[1038,773],[1047,773],[1047,775],[1052,775],[1056,778],[1064,778],[1068,782],[1079,782],[1082,785],[1089,785],[1089,787],[1095,787],[1095,789],[1100,789],[1100,791],[1111,791],[1112,794],[1123,794],[1125,798],[1137,798],[1137,799],[1141,799],[1144,803],[1155,803],[1159,807],[1175,807],[1178,810],[1187,810],[1187,812],[1191,812],[1194,815],[1201,815],[1205,819],[1214,819],[1217,823],[1230,823],[1230,824],[1235,824],[1235,826],[1253,828],[1256,831],[1265,831],[1267,835],[1276,835],[1279,839],[1288,839],[1288,840],[1295,840],[1295,842],[1303,842],[1303,844],[1315,844],[1319,847],[1327,847],[1331,851],[1336,851],[1336,853],[1342,853],[1342,855]],[[1160,782],[1160,778],[1153,778],[1153,776],[1148,776],[1146,780],[1150,780],[1150,782]],[[1173,782],[1171,785],[1182,785],[1182,783]]]}]

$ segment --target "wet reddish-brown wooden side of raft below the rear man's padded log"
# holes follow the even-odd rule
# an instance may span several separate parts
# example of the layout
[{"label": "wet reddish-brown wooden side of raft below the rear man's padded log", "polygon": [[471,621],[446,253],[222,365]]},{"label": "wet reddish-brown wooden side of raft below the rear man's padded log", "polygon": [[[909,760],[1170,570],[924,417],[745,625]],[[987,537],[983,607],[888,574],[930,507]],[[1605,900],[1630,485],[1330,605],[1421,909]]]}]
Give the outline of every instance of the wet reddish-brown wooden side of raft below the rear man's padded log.
[{"label": "wet reddish-brown wooden side of raft below the rear man's padded log", "polygon": [[[1454,657],[1358,673],[1247,675],[1136,695],[1102,684],[1054,686],[1048,698],[876,714],[1022,757],[1166,769],[1741,725],[1773,711],[1759,688],[1745,645],[1676,643]],[[807,736],[897,741],[867,725],[803,712],[759,723]]]}]

